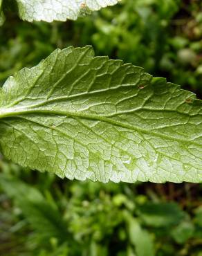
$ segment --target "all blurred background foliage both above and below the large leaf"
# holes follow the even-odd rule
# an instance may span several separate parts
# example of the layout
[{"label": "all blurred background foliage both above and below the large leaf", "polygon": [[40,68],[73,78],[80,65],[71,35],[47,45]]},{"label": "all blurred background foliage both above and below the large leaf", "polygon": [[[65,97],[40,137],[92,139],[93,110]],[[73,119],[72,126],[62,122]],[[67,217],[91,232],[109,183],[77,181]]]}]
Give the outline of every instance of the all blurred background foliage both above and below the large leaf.
[{"label": "all blurred background foliage both above and below the large leaf", "polygon": [[[0,28],[0,83],[55,48],[92,44],[202,93],[202,3],[122,0],[77,21]],[[1,159],[0,255],[202,255],[202,185],[64,181]]]}]

